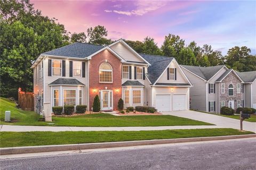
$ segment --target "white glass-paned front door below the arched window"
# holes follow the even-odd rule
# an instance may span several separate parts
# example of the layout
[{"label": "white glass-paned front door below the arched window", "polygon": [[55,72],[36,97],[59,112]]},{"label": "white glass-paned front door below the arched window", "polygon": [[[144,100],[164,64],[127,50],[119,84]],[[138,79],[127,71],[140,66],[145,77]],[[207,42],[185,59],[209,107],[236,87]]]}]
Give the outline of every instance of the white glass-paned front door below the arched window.
[{"label": "white glass-paned front door below the arched window", "polygon": [[113,109],[113,96],[111,90],[100,91],[100,109],[112,110]]}]

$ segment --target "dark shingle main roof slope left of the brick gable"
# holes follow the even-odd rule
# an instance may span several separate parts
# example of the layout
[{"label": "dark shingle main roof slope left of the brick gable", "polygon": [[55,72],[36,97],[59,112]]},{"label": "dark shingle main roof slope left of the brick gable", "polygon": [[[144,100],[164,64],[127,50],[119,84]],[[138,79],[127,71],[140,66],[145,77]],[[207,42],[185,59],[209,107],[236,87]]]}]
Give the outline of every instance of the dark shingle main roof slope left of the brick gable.
[{"label": "dark shingle main roof slope left of the brick gable", "polygon": [[69,56],[74,58],[85,58],[97,51],[99,51],[104,46],[93,45],[86,43],[73,43],[52,51],[44,52],[43,55],[57,55],[57,56]]}]

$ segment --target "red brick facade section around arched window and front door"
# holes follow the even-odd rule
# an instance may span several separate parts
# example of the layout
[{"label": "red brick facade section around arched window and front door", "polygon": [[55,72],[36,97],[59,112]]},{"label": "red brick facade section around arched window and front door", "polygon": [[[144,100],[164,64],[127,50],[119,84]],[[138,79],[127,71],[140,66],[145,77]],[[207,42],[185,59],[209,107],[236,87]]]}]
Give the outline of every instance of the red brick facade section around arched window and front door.
[{"label": "red brick facade section around arched window and front door", "polygon": [[[113,83],[99,83],[99,67],[102,63],[109,63],[113,69]],[[113,109],[117,110],[117,102],[122,98],[122,63],[114,54],[104,50],[89,61],[89,109],[91,110],[94,97],[100,90],[113,90]]]}]

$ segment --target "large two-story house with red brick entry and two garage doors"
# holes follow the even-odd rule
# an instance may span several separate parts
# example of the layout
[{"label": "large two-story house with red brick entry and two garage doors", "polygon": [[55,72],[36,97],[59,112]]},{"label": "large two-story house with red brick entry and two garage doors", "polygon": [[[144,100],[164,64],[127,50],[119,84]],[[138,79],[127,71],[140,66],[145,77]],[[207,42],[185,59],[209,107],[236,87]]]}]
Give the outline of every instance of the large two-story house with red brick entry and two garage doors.
[{"label": "large two-story house with red brick entry and two garage doors", "polygon": [[174,58],[138,54],[122,39],[108,46],[73,43],[42,53],[34,69],[35,110],[85,104],[91,110],[153,106],[158,111],[189,109],[192,86]]}]

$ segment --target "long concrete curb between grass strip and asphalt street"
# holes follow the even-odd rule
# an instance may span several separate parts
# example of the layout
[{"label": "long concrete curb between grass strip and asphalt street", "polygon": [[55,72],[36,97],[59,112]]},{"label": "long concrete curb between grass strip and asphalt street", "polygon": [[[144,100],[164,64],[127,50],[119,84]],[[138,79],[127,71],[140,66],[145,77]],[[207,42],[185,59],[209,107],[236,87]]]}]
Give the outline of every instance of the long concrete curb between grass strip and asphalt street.
[{"label": "long concrete curb between grass strip and asphalt street", "polygon": [[67,151],[67,150],[83,150],[83,149],[99,149],[99,148],[132,147],[132,146],[137,146],[137,145],[167,144],[167,143],[181,143],[181,142],[199,142],[199,141],[240,139],[240,138],[249,138],[249,137],[256,137],[256,134],[231,135],[231,136],[211,136],[211,137],[191,137],[191,138],[179,138],[179,139],[127,141],[127,142],[103,142],[103,143],[42,145],[42,146],[34,146],[34,147],[10,147],[10,148],[1,148],[0,149],[0,155],[11,155],[11,154],[21,154],[21,153],[36,153],[36,152]]}]

